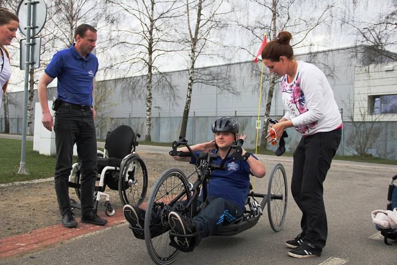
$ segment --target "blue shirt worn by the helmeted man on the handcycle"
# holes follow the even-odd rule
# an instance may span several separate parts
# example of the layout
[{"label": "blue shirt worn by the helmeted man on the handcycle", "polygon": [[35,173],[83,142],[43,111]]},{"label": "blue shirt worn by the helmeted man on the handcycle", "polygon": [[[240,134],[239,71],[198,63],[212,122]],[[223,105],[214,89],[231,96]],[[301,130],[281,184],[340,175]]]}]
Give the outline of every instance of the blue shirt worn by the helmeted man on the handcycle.
[{"label": "blue shirt worn by the helmeted man on the handcycle", "polygon": [[[213,150],[212,153],[216,153]],[[199,155],[199,152],[196,152]],[[253,154],[252,157],[258,160]],[[222,158],[217,157],[212,163],[220,165]],[[195,157],[191,158],[191,164],[196,164]],[[226,158],[225,170],[213,170],[212,177],[207,182],[208,195],[230,200],[241,208],[244,208],[250,188],[250,165],[247,161],[234,161],[233,154]]]}]

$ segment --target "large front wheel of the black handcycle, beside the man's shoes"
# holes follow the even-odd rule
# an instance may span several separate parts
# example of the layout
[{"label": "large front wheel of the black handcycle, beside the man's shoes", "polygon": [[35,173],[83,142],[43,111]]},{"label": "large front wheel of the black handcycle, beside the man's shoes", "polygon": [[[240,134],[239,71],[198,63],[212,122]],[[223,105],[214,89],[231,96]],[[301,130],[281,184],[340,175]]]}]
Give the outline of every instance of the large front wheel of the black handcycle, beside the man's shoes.
[{"label": "large front wheel of the black handcycle, beside the man's shoes", "polygon": [[[147,203],[144,234],[146,249],[155,264],[171,264],[179,256],[180,251],[169,245],[168,214],[179,211],[183,201],[190,198],[188,180],[179,169],[166,170],[154,184]],[[191,217],[192,206],[182,214]]]}]

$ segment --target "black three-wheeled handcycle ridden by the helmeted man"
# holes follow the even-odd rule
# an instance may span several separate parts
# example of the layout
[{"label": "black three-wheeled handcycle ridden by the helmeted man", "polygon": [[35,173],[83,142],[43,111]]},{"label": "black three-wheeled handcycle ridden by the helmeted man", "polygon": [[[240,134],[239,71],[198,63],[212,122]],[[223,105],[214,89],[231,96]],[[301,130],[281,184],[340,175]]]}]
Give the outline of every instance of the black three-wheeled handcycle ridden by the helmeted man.
[{"label": "black three-wheeled handcycle ridden by the helmeted man", "polygon": [[[232,145],[229,149],[228,154],[232,149],[235,150],[235,160],[247,159],[247,157],[241,155],[242,144],[243,140],[240,139],[236,145]],[[177,151],[177,148],[181,145],[186,146],[189,152]],[[206,182],[211,178],[213,170],[225,169],[227,157],[226,155],[220,164],[214,164],[212,161],[216,157],[215,154],[200,152],[197,156],[190,148],[188,141],[183,137],[173,142],[170,155],[181,157],[195,156],[197,164],[196,170],[189,176],[186,176],[182,170],[177,168],[170,168],[164,171],[151,190],[145,213],[144,237],[150,258],[159,265],[171,264],[179,256],[181,251],[174,247],[176,244],[174,238],[176,236],[196,236],[196,234],[177,235],[170,231],[168,214],[171,211],[177,211],[188,218],[197,215],[199,210],[205,206],[205,203],[197,205],[200,190],[202,189],[203,201],[205,202],[207,197]],[[197,175],[194,184],[189,182],[193,175]],[[278,163],[270,173],[267,194],[254,191],[252,185],[250,185],[243,216],[231,223],[224,223],[220,230],[213,235],[236,235],[252,228],[261,221],[266,204],[270,226],[273,231],[278,232],[285,221],[287,199],[286,174],[282,164]],[[156,227],[155,233],[151,231],[153,227]],[[141,230],[132,226],[130,228]]]}]

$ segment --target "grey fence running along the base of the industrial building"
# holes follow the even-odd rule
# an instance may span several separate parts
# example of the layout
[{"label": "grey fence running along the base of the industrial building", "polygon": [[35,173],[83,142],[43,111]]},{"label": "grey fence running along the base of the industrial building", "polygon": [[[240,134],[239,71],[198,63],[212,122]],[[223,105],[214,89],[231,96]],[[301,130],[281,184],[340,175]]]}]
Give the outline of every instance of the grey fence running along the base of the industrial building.
[{"label": "grey fence running along the base of the industrial building", "polygon": [[[236,116],[240,124],[240,133],[247,134],[247,139],[244,143],[246,148],[255,148],[257,139],[256,116]],[[281,118],[281,117],[274,117]],[[199,142],[206,142],[213,138],[211,132],[211,125],[216,117],[197,117],[195,114],[189,117],[186,139],[191,144]],[[12,117],[10,120],[10,133],[22,133],[22,117]],[[263,120],[263,119],[262,119]],[[120,125],[128,125],[132,127],[135,133],[141,135],[140,140],[145,138],[146,119],[144,117],[125,117],[125,118],[106,118],[97,117],[96,133],[98,139],[106,138],[107,132],[115,129]],[[154,142],[173,142],[177,140],[182,124],[182,117],[152,117],[151,120],[151,140]],[[34,123],[33,123],[34,124]],[[364,123],[363,123],[364,124]],[[262,121],[263,126],[263,121]],[[356,124],[357,126],[357,124]],[[33,128],[34,130],[34,128]],[[376,157],[395,159],[397,160],[397,122],[377,122],[373,128],[374,135],[369,139],[371,141],[371,148],[368,153]],[[0,117],[0,132],[4,132],[4,118]],[[296,133],[293,128],[287,129],[289,134],[285,141],[287,151],[293,151],[297,146],[301,136]],[[259,130],[258,144],[261,143],[262,129]],[[337,151],[338,155],[353,155],[357,154],[358,133],[352,122],[343,122],[342,142]],[[139,139],[138,139],[139,141]],[[276,147],[268,145],[268,149],[275,149]]]}]

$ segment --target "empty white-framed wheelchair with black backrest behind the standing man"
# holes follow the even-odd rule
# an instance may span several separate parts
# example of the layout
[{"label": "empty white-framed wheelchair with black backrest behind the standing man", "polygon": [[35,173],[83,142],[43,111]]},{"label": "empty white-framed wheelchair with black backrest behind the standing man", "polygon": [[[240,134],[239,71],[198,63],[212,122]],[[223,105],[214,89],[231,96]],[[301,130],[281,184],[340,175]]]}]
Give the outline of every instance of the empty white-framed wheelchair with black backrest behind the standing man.
[{"label": "empty white-framed wheelchair with black backrest behind the standing man", "polygon": [[[138,145],[131,127],[121,125],[108,132],[105,141],[105,149],[97,151],[98,177],[95,185],[94,208],[97,210],[101,197],[105,197],[105,213],[112,216],[116,207],[110,203],[110,197],[105,193],[108,186],[111,190],[119,191],[119,197],[123,205],[130,203],[140,205],[147,192],[147,170],[143,160],[135,154]],[[72,165],[69,175],[69,187],[74,188],[77,198],[80,199],[80,164]],[[80,205],[72,199],[73,208]]]}]

